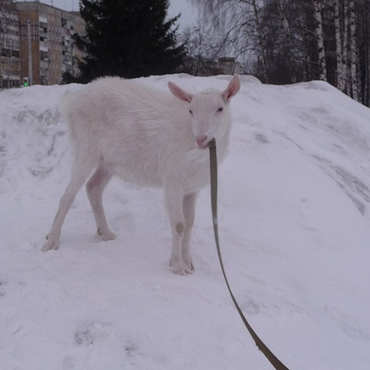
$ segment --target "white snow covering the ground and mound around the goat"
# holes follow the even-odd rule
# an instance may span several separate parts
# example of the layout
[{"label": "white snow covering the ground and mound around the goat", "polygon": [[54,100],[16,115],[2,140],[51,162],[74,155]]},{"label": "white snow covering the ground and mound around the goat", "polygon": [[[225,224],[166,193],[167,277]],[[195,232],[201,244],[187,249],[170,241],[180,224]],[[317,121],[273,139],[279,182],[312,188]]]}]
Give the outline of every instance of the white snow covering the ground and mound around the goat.
[{"label": "white snow covering the ground and mound around the goat", "polygon": [[[141,80],[200,91],[228,79]],[[161,191],[119,179],[104,194],[116,240],[94,235],[80,191],[60,249],[41,252],[69,178],[58,102],[78,88],[0,92],[1,369],[271,369],[223,282],[209,187],[197,203],[194,275],[168,267]],[[289,369],[369,369],[369,108],[324,82],[251,76],[231,104],[218,223],[236,299]]]}]

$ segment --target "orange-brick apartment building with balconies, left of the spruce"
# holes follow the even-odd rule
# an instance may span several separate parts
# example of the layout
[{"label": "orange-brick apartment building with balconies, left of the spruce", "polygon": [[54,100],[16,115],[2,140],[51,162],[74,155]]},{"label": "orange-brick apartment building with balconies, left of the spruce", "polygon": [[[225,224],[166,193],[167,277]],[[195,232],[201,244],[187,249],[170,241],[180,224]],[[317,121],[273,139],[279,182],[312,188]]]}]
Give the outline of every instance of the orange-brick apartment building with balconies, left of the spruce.
[{"label": "orange-brick apartment building with balconies, left of the spruce", "polygon": [[[64,11],[40,1],[1,0],[3,1],[11,3],[11,20],[14,21],[13,27],[16,29],[8,27],[9,31],[1,30],[1,35],[12,40],[9,32],[14,33],[11,53],[14,54],[13,58],[18,55],[18,74],[13,75],[15,79],[9,87],[17,86],[16,81],[42,85],[58,84],[62,82],[64,72],[74,75],[78,73],[75,58],[81,58],[82,55],[74,46],[72,36],[74,33],[85,32],[85,21],[80,13]],[[2,54],[6,53],[9,54],[8,49]],[[6,74],[2,75],[2,87],[8,87]]]}]

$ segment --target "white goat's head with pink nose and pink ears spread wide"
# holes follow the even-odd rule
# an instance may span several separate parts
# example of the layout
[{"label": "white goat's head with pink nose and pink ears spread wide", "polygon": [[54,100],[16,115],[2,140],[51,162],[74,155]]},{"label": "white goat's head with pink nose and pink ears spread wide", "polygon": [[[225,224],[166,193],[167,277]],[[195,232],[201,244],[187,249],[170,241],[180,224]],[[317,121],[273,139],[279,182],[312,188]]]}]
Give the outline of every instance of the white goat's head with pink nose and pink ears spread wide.
[{"label": "white goat's head with pink nose and pink ears spread wide", "polygon": [[206,148],[212,139],[217,142],[228,134],[231,124],[229,102],[239,91],[238,76],[233,76],[224,91],[210,89],[193,95],[172,82],[168,83],[168,88],[175,97],[189,102],[189,115],[199,148]]}]

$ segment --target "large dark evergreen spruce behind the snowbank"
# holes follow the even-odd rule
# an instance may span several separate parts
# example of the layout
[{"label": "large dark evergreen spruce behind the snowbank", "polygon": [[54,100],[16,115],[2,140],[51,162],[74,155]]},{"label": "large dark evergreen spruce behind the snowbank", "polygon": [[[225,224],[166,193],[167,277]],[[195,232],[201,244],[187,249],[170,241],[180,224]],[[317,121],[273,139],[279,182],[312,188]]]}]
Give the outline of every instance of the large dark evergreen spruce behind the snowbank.
[{"label": "large dark evergreen spruce behind the snowbank", "polygon": [[86,35],[74,37],[85,53],[77,80],[173,73],[185,48],[176,45],[179,16],[166,20],[168,6],[168,0],[80,0]]}]

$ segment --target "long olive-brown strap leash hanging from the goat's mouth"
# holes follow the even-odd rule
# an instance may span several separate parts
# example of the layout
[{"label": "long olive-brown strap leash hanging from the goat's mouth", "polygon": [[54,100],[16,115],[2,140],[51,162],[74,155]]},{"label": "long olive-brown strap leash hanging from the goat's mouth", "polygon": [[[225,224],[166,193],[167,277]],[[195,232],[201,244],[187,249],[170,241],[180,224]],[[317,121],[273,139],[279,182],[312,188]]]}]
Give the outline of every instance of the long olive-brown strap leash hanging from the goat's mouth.
[{"label": "long olive-brown strap leash hanging from the goat's mouth", "polygon": [[259,336],[255,333],[252,327],[249,325],[247,319],[245,318],[242,310],[240,309],[238,302],[231,291],[228,279],[226,277],[225,269],[223,267],[222,256],[221,256],[221,249],[220,243],[218,239],[218,223],[217,223],[217,155],[216,155],[216,141],[212,139],[209,144],[209,159],[210,159],[210,171],[211,171],[211,203],[212,203],[212,219],[213,219],[213,231],[215,232],[215,240],[216,240],[216,247],[218,258],[220,260],[220,265],[222,269],[223,277],[225,278],[226,286],[228,287],[229,293],[231,295],[231,299],[238,311],[244,325],[248,329],[249,334],[252,336],[253,340],[255,341],[257,347],[260,351],[266,356],[266,358],[270,361],[273,367],[276,370],[289,370],[262,342]]}]

